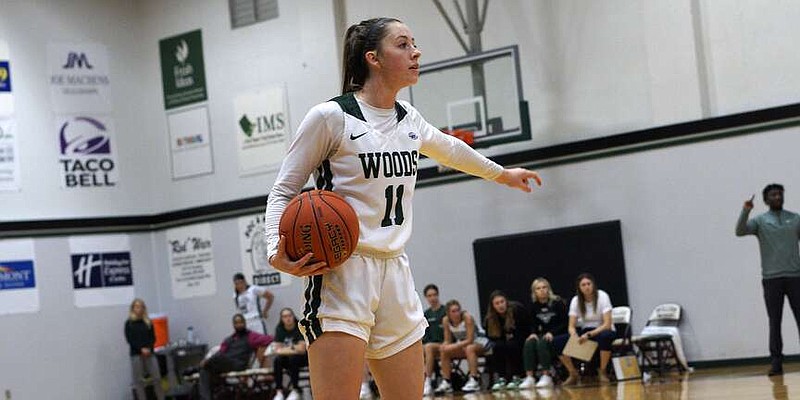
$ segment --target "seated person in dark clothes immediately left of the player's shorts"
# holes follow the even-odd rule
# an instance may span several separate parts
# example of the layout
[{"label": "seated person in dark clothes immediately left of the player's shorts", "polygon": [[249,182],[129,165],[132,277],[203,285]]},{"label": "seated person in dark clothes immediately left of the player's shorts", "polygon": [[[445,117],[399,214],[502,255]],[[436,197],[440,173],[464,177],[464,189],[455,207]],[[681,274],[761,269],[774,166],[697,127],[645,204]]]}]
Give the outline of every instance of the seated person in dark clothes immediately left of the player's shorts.
[{"label": "seated person in dark clothes immediately left of the player's shorts", "polygon": [[308,366],[306,342],[297,325],[297,316],[291,308],[281,310],[281,322],[275,327],[275,341],[272,343],[272,354],[275,355],[273,370],[275,371],[274,400],[283,400],[286,388],[283,387],[283,372],[289,374],[291,391],[286,400],[297,400],[302,397],[298,381],[300,368]]}]

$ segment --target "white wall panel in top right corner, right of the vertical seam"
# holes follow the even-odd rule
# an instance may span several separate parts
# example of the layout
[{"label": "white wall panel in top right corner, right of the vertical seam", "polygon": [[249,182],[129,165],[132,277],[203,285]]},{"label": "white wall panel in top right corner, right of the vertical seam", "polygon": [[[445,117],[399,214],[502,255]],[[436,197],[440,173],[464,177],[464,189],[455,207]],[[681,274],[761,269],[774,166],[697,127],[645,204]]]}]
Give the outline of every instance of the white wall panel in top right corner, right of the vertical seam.
[{"label": "white wall panel in top right corner, right of the vertical seam", "polygon": [[731,114],[800,100],[797,3],[698,3],[710,60],[712,112]]}]

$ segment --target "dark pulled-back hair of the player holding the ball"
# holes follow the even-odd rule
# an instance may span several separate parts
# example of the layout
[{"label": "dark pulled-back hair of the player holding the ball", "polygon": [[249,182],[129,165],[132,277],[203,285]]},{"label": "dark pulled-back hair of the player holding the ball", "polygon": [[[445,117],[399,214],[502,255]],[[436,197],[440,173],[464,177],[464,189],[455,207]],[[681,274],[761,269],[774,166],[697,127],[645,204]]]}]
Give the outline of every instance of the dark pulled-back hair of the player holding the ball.
[{"label": "dark pulled-back hair of the player holding the ball", "polygon": [[378,50],[381,39],[386,36],[386,26],[390,22],[401,22],[395,18],[372,18],[351,25],[344,35],[344,54],[342,55],[342,94],[354,92],[364,86],[369,76],[369,68],[364,53]]}]

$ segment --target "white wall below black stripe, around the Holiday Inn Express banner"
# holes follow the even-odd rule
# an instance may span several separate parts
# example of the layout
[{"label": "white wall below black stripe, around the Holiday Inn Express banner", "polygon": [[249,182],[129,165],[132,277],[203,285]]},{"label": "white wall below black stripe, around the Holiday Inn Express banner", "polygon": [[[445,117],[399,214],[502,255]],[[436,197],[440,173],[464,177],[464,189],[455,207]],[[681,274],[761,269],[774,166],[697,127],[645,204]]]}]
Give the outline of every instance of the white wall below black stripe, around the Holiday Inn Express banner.
[{"label": "white wall below black stripe, around the Holiday Inn Express banner", "polygon": [[[130,237],[135,295],[159,311],[151,235]],[[126,399],[128,305],[77,308],[66,238],[35,241],[40,311],[3,315],[0,391],[13,399]],[[126,397],[127,396],[127,397]]]}]

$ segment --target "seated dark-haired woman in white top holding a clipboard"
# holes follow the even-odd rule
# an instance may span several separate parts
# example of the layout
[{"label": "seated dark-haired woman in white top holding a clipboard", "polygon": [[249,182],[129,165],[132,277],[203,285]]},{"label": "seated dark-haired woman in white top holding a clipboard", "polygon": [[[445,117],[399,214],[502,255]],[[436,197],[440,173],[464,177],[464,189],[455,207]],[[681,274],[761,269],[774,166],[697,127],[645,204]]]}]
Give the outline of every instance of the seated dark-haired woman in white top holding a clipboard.
[{"label": "seated dark-haired woman in white top holding a clipboard", "polygon": [[[608,293],[598,290],[594,277],[583,273],[578,275],[576,295],[569,303],[569,324],[567,334],[556,337],[555,346],[559,354],[564,351],[567,341],[575,336],[580,343],[587,340],[597,342],[600,349],[600,369],[597,377],[601,383],[608,383],[606,368],[611,360],[611,342],[616,333],[611,320],[611,298]],[[569,371],[569,377],[564,381],[565,386],[574,385],[578,381],[578,370],[572,364],[572,358],[561,354],[561,361]]]}]

